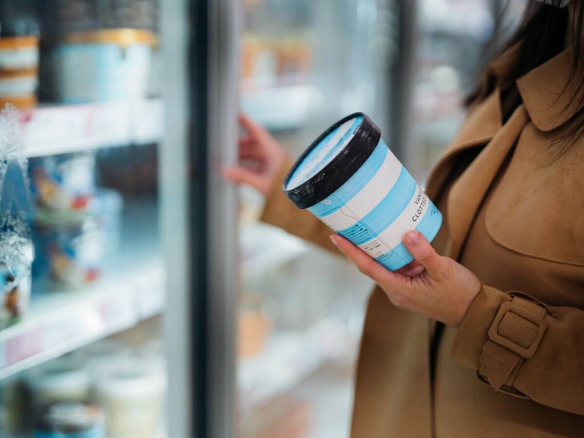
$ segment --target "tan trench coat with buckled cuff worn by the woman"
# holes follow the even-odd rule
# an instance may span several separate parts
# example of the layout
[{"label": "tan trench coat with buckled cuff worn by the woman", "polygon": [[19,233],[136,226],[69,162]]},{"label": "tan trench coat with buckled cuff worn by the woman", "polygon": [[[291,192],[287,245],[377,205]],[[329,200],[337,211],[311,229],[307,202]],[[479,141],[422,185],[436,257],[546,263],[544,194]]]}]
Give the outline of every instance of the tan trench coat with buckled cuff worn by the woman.
[{"label": "tan trench coat with buckled cuff worn by the woman", "polygon": [[[491,64],[488,97],[427,184],[445,219],[433,245],[484,287],[460,328],[374,289],[353,437],[584,436],[584,139],[557,161],[548,148],[575,113],[558,99],[571,51],[517,81],[523,103],[503,123],[500,89],[515,53]],[[280,181],[263,220],[335,251],[331,230],[297,210]]]}]

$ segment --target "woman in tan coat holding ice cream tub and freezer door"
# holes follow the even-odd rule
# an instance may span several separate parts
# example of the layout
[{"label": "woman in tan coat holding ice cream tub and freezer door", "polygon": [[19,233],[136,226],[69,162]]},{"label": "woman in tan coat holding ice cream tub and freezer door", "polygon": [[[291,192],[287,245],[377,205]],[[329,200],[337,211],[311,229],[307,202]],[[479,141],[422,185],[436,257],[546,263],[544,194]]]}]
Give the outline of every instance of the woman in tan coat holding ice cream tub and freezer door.
[{"label": "woman in tan coat holding ice cream tub and freezer door", "polygon": [[[551,2],[546,2],[551,3]],[[263,220],[339,249],[376,281],[356,377],[352,434],[584,436],[583,1],[529,5],[486,68],[427,184],[444,215],[434,248],[385,270],[281,191],[283,149],[249,137],[227,176],[266,194]]]}]

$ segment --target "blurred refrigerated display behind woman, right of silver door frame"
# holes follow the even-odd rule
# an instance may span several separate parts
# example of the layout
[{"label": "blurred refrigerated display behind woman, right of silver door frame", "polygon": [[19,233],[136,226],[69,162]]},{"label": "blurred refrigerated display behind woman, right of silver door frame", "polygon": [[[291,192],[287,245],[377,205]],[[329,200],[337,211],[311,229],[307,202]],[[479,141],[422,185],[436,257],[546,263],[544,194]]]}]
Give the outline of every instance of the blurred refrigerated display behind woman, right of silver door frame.
[{"label": "blurred refrigerated display behind woman, right of silver door frame", "polygon": [[[522,2],[505,3],[244,1],[241,109],[294,158],[323,128],[363,111],[425,181],[464,117],[486,43],[516,25]],[[262,200],[245,187],[240,195],[245,244]],[[279,234],[290,244],[278,244]],[[254,342],[239,350],[240,433],[349,436],[352,366],[371,283],[306,242],[294,250],[280,230],[261,235],[279,246],[273,260],[281,264],[257,277],[242,266],[239,336]]]}]

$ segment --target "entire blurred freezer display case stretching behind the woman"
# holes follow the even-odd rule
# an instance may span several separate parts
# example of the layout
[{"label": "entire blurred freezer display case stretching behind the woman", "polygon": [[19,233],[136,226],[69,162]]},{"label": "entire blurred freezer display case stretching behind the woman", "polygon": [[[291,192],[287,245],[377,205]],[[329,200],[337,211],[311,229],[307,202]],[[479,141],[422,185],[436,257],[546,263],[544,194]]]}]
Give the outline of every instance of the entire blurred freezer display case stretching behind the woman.
[{"label": "entire blurred freezer display case stretching behind the woman", "polygon": [[[460,117],[445,44],[475,62],[466,40],[486,37],[481,11],[500,2],[418,3],[0,0],[0,102],[15,106],[0,147],[30,182],[35,246],[28,308],[0,260],[18,310],[0,329],[0,434],[75,419],[113,437],[348,436],[371,282],[260,224],[261,196],[221,168],[237,159],[240,107],[292,156],[360,110],[425,175],[448,135],[432,117]],[[468,38],[443,9],[471,3]],[[427,40],[412,37],[418,19]],[[6,168],[3,199],[26,186]]]}]

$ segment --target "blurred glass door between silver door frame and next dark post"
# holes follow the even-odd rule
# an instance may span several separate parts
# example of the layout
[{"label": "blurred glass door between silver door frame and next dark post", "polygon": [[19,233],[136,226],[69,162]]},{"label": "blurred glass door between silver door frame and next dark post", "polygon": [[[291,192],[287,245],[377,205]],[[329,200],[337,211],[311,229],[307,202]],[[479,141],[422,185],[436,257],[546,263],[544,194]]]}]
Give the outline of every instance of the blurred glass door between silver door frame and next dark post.
[{"label": "blurred glass door between silver door frame and next dark post", "polygon": [[[392,1],[242,0],[241,110],[297,158],[326,127],[367,113],[391,145]],[[345,260],[259,221],[240,191],[238,435],[349,436],[370,281]]]}]

